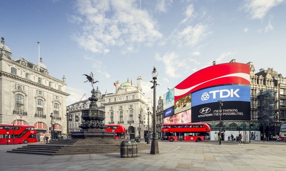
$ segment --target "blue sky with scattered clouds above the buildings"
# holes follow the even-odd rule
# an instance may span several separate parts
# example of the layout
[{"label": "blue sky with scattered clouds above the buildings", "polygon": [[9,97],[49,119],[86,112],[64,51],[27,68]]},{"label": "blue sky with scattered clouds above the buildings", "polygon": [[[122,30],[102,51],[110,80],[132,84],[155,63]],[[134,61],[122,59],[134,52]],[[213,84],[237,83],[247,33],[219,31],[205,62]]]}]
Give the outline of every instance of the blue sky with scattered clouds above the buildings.
[{"label": "blue sky with scattered clouds above the buildings", "polygon": [[[0,1],[0,36],[12,57],[43,63],[66,77],[67,104],[90,96],[82,74],[104,94],[113,82],[142,76],[152,97],[152,68],[163,96],[194,72],[218,63],[252,61],[256,72],[286,76],[286,1]],[[158,100],[158,98],[157,98]]]}]

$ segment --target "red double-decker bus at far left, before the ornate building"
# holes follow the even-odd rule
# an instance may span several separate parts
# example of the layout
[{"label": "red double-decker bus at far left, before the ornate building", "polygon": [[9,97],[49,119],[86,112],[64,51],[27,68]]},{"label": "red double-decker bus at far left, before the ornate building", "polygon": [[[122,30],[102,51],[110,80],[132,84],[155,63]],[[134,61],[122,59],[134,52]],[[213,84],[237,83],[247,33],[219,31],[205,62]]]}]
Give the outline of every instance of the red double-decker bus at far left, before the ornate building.
[{"label": "red double-decker bus at far left, before the ornate building", "polygon": [[34,126],[0,124],[0,144],[37,142]]}]

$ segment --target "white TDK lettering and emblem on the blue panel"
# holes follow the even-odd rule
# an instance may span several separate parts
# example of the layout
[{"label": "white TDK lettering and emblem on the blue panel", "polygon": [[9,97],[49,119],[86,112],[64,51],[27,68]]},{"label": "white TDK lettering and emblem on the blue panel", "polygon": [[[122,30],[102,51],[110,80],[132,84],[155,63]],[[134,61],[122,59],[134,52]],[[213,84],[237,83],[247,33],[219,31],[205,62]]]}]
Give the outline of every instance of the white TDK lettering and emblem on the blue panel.
[{"label": "white TDK lettering and emblem on the blue panel", "polygon": [[202,94],[202,101],[204,100],[208,100],[210,97],[213,97],[213,99],[216,99],[218,96],[219,98],[227,98],[227,97],[240,97],[238,95],[238,91],[240,89],[231,89],[231,90],[227,90],[227,89],[223,89],[223,90],[215,90],[215,91],[210,91],[210,92],[205,92]]}]

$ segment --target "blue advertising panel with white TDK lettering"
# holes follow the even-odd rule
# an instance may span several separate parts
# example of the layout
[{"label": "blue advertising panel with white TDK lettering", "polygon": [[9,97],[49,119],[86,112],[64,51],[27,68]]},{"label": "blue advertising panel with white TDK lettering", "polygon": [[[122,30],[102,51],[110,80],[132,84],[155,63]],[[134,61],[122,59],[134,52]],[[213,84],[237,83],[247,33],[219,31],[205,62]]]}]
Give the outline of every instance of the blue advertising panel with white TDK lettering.
[{"label": "blue advertising panel with white TDK lettering", "polygon": [[218,86],[192,93],[192,107],[217,102],[218,100],[250,102],[250,87],[238,85]]}]

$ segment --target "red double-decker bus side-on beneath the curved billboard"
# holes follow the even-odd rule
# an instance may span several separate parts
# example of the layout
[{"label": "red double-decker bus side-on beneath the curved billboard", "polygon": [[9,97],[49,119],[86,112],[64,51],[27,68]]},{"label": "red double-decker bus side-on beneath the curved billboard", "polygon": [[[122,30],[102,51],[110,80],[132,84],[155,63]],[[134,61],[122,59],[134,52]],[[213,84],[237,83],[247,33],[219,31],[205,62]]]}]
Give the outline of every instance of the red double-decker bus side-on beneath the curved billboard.
[{"label": "red double-decker bus side-on beneath the curved billboard", "polygon": [[163,124],[163,140],[204,141],[209,140],[211,128],[206,123]]}]

